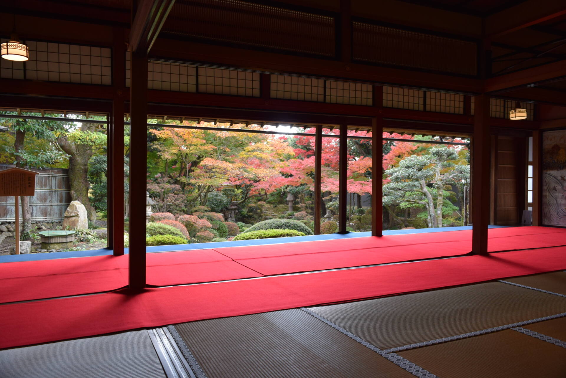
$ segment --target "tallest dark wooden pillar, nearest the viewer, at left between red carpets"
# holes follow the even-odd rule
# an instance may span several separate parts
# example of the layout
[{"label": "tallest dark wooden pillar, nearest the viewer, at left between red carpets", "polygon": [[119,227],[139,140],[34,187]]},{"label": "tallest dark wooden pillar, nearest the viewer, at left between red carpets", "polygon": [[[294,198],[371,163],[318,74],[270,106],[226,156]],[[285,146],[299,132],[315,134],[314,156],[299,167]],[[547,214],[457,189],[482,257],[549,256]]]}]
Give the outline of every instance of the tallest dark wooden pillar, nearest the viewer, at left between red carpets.
[{"label": "tallest dark wooden pillar, nearest the viewer, at left between red carpets", "polygon": [[145,287],[147,182],[147,53],[134,52],[130,85],[130,287]]}]

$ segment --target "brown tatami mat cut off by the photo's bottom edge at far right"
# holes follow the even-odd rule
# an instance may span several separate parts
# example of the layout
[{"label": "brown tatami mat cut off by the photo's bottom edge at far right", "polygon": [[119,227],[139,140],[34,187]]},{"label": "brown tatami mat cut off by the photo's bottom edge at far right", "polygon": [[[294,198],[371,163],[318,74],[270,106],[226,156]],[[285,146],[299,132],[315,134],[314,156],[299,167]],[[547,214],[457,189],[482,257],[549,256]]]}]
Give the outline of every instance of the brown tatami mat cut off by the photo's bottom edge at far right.
[{"label": "brown tatami mat cut off by the photo's bottom edge at far right", "polygon": [[566,349],[511,329],[399,355],[442,378],[564,378],[566,371]]}]

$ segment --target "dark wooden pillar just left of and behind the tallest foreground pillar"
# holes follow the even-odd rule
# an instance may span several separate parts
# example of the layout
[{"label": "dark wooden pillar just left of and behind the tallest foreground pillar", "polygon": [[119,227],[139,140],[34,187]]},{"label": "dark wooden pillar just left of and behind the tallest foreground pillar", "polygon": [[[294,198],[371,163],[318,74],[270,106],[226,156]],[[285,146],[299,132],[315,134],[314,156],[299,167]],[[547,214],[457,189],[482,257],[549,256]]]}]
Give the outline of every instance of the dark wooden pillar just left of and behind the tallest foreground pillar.
[{"label": "dark wooden pillar just left of and behind the tallest foreground pillar", "polygon": [[126,45],[125,32],[121,28],[114,29],[113,46],[113,81],[114,98],[112,114],[109,119],[108,146],[108,208],[109,247],[114,256],[124,254],[124,91],[126,81]]}]

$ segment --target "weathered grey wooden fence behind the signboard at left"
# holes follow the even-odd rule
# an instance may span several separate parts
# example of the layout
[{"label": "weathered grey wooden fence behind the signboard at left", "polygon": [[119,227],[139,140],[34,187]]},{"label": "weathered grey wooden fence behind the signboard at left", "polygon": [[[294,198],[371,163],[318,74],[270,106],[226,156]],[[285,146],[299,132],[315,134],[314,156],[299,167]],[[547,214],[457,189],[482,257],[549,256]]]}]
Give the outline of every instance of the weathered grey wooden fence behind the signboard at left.
[{"label": "weathered grey wooden fence behind the signboard at left", "polygon": [[[14,167],[0,164],[0,170]],[[67,169],[31,169],[36,176],[35,196],[30,197],[32,223],[62,221],[65,210],[71,203]],[[20,211],[20,214],[21,211]],[[0,222],[14,222],[14,197],[0,197]]]}]

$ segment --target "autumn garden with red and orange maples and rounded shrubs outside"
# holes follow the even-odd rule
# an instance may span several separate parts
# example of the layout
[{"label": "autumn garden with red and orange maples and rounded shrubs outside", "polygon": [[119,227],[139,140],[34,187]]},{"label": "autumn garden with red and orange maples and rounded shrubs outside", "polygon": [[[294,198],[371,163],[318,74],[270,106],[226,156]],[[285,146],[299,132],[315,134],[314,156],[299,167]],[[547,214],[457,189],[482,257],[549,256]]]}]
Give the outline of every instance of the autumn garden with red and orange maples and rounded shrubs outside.
[{"label": "autumn garden with red and orange maples and rounded shrubs outside", "polygon": [[[320,216],[321,234],[338,230],[339,128],[323,129],[321,213],[315,214],[314,127],[149,122],[155,123],[148,126],[147,246],[313,235],[315,216]],[[0,133],[0,163],[68,170],[69,200],[80,201],[88,212],[88,229],[80,231],[72,249],[105,247],[105,123],[5,118],[1,124],[8,132]],[[469,149],[464,144],[468,140],[443,138],[456,144],[434,144],[440,139],[430,135],[385,132],[383,137],[378,173],[383,209],[378,211],[384,229],[463,225],[470,174]],[[347,140],[346,229],[371,231],[371,132],[348,130]],[[128,203],[129,152],[126,133],[126,230],[128,209],[146,205]],[[35,240],[40,230],[62,228],[57,222],[33,222],[29,204],[22,203],[22,208],[22,240]]]}]

